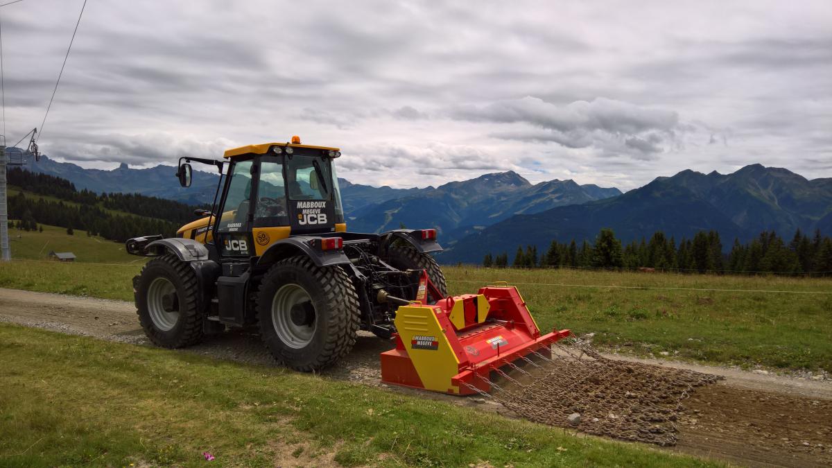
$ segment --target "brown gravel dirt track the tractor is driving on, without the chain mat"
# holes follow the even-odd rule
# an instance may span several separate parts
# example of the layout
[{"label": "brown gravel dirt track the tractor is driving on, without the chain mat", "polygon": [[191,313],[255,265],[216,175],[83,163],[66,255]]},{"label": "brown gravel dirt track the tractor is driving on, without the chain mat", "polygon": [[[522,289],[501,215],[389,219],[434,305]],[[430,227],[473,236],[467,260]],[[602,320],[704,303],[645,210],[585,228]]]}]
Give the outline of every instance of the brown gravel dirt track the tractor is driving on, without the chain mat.
[{"label": "brown gravel dirt track the tractor is driving on, without the chain mat", "polygon": [[[130,302],[0,288],[0,321],[52,331],[146,344]],[[389,343],[362,335],[354,351],[326,375],[371,386],[379,382],[379,352]],[[206,356],[272,365],[257,336],[230,332],[188,349]],[[760,375],[716,366],[634,360],[725,377],[685,402],[679,443],[669,449],[750,466],[832,466],[832,382]],[[391,389],[513,416],[490,401]]]}]

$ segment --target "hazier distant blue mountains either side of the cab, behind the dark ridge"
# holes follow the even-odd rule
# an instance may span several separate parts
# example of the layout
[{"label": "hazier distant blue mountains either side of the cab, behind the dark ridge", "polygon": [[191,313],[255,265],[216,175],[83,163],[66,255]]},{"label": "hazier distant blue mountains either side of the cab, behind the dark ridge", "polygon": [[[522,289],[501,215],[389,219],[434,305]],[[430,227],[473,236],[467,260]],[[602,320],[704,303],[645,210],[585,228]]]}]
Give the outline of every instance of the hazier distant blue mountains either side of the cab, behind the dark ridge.
[{"label": "hazier distant blue mountains either side of the cab, behind the dark ridge", "polygon": [[[135,169],[121,164],[105,171],[42,156],[27,168],[63,177],[79,190],[136,192],[192,205],[213,202],[217,183],[215,174],[194,171],[191,187],[182,188],[174,177],[176,168],[161,165]],[[518,213],[537,213],[621,194],[617,188],[579,186],[572,181],[532,185],[516,172],[486,174],[436,188],[372,187],[343,178],[339,178],[339,187],[350,231],[381,232],[403,224],[435,227],[446,243]]]}]

